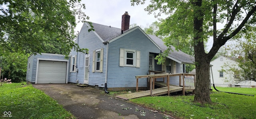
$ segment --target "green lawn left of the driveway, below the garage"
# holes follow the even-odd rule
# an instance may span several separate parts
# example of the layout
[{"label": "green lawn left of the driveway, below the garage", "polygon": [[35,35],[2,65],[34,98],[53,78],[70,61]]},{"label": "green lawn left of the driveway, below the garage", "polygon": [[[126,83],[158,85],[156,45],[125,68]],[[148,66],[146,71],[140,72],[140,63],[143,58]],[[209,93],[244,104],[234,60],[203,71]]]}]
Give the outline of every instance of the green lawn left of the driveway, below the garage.
[{"label": "green lawn left of the driveway, below the garage", "polygon": [[[24,83],[26,84],[26,83]],[[61,105],[41,90],[22,83],[0,86],[0,118],[10,111],[13,119],[74,119]],[[7,114],[8,115],[8,114]]]}]

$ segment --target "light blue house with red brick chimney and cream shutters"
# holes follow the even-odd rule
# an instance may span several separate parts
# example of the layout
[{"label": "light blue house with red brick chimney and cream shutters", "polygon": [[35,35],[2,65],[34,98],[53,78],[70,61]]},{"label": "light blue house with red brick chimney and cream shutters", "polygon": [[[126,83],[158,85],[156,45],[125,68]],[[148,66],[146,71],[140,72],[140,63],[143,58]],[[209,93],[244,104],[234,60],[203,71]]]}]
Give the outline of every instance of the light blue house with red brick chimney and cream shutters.
[{"label": "light blue house with red brick chimney and cream shutters", "polygon": [[[76,43],[89,52],[70,52],[70,59],[66,61],[67,82],[107,87],[108,90],[135,89],[135,76],[146,75],[149,70],[181,73],[185,72],[185,64],[194,64],[194,57],[176,51],[174,47],[165,64],[156,64],[156,55],[167,49],[162,39],[147,35],[138,26],[129,29],[129,22],[130,16],[126,12],[122,15],[121,29],[92,23],[94,31],[88,32],[90,25],[84,23]],[[170,84],[179,85],[179,77],[171,77]],[[138,87],[146,89],[147,79],[140,80]]]}]

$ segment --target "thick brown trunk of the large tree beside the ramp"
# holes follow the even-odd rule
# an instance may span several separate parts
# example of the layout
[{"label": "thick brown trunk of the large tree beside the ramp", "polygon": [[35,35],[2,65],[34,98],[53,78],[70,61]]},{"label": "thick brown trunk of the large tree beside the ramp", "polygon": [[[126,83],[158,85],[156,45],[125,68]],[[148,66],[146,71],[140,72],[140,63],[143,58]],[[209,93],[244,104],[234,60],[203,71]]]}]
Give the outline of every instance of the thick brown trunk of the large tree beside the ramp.
[{"label": "thick brown trunk of the large tree beside the ramp", "polygon": [[204,51],[202,0],[196,0],[194,4],[194,51],[196,64],[196,86],[194,101],[199,103],[211,103],[209,90],[209,64]]}]

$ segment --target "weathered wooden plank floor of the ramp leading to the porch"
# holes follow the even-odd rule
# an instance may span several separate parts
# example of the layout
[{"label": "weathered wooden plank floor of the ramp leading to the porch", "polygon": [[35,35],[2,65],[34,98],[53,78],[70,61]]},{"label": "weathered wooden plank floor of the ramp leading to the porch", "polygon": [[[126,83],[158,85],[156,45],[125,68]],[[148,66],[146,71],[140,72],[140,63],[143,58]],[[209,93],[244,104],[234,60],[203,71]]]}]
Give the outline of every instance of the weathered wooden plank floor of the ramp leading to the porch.
[{"label": "weathered wooden plank floor of the ramp leading to the porch", "polygon": [[[170,93],[182,91],[182,87],[179,87],[179,86],[169,86],[169,87],[170,87]],[[153,94],[153,96],[160,96],[160,95],[168,94],[168,87],[165,86],[162,88],[153,89],[152,94]],[[150,90],[129,93],[129,94],[122,94],[122,95],[116,96],[116,98],[128,100],[128,99],[140,98],[140,97],[145,97],[145,96],[150,96]]]}]

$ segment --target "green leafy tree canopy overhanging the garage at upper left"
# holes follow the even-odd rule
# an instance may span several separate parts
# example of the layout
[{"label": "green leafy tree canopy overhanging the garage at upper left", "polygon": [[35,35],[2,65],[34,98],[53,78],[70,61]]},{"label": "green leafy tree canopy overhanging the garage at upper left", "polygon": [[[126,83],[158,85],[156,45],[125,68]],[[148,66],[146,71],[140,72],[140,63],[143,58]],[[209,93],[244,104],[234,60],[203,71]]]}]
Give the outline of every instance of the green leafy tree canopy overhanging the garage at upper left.
[{"label": "green leafy tree canopy overhanging the garage at upper left", "polygon": [[[76,17],[85,21],[81,0],[2,0],[0,2],[0,51],[44,52],[44,43],[60,41],[61,47],[79,49],[74,43]],[[67,55],[67,54],[64,54]]]}]

